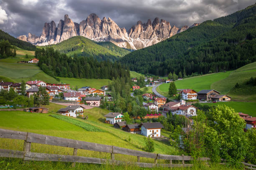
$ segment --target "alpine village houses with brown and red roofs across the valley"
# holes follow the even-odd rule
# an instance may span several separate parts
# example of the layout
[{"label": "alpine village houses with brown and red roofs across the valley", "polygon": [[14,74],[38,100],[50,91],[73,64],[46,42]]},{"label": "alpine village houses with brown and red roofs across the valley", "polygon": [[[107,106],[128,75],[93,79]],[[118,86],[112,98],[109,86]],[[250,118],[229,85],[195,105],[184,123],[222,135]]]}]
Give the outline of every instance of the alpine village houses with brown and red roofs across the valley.
[{"label": "alpine village houses with brown and red roofs across the valley", "polygon": [[[133,82],[131,96],[133,96],[133,93],[141,87],[136,85],[137,78],[132,78],[131,81]],[[159,83],[173,82],[173,80],[164,79],[153,80],[152,77],[146,77],[144,81],[146,83],[145,87],[156,86],[159,85]],[[21,84],[21,82],[0,82],[0,90],[9,91],[12,88],[20,95]],[[39,91],[39,87],[45,87],[50,102],[61,103],[67,106],[59,109],[57,113],[68,117],[80,117],[86,119],[84,116],[84,109],[100,107],[103,102],[113,102],[113,97],[108,85],[102,86],[101,89],[84,86],[77,90],[73,90],[69,84],[52,84],[41,80],[26,82],[26,96],[31,97],[36,95]],[[230,96],[220,95],[220,92],[213,89],[200,90],[199,92],[192,89],[177,89],[177,93],[180,97],[179,100],[169,100],[167,97],[158,97],[154,92],[144,93],[141,97],[143,98],[143,107],[147,111],[146,115],[143,117],[130,116],[132,121],[126,122],[123,112],[109,112],[104,115],[105,119],[103,122],[112,124],[113,127],[128,133],[140,134],[152,138],[161,138],[161,129],[164,128],[164,126],[161,122],[157,122],[159,117],[167,117],[168,114],[187,117],[187,121],[190,122],[187,125],[187,128],[189,128],[193,125],[193,117],[197,116],[198,110],[198,108],[193,105],[193,102],[228,102],[231,100]],[[2,107],[9,108],[11,106]],[[109,107],[108,110],[110,110]],[[26,107],[24,108],[24,111],[47,113],[48,109],[45,107]],[[238,114],[246,122],[245,131],[250,128],[256,129],[256,117],[241,112]]]}]

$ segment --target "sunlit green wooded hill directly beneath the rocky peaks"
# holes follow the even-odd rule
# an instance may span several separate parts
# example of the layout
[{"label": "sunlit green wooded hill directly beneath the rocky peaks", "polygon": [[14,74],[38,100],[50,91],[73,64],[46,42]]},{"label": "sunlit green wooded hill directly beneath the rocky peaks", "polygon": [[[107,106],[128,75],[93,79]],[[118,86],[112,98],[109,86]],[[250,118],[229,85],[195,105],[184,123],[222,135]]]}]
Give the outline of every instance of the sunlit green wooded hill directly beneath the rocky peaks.
[{"label": "sunlit green wooded hill directly beneath the rocky peaks", "polygon": [[98,61],[115,61],[129,53],[128,50],[120,48],[112,42],[95,42],[82,36],[71,37],[56,45],[48,45],[48,47],[53,47],[54,50],[69,56],[76,54],[77,56],[94,57]]}]

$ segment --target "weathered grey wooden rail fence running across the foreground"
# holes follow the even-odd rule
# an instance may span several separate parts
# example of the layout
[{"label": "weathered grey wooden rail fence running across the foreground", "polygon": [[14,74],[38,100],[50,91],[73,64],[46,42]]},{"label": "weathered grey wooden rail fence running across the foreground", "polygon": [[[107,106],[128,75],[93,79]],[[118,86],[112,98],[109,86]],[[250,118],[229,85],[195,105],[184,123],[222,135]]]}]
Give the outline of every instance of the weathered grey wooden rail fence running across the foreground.
[{"label": "weathered grey wooden rail fence running across the foreground", "polygon": [[[129,164],[137,165],[139,167],[189,167],[193,164],[186,164],[185,161],[193,160],[191,156],[185,155],[164,155],[164,154],[156,154],[156,153],[148,153],[139,150],[131,150],[126,148],[120,148],[117,146],[111,145],[102,145],[98,143],[90,143],[79,140],[72,140],[66,138],[59,138],[48,135],[41,135],[36,133],[28,133],[28,132],[19,132],[14,130],[5,130],[0,129],[0,138],[10,138],[10,139],[18,139],[24,140],[23,151],[19,150],[5,150],[0,149],[0,157],[7,158],[22,158],[23,161],[60,161],[60,162],[72,162],[72,163],[95,163],[95,164],[127,164],[127,162],[123,162],[120,160],[115,160],[115,154],[123,154],[123,155],[132,155],[137,157],[137,162],[129,162]],[[40,143],[46,145],[55,145],[61,147],[74,148],[73,155],[57,155],[57,154],[48,154],[48,153],[33,153],[31,152],[31,143]],[[97,152],[105,152],[111,154],[111,159],[103,159],[103,158],[90,158],[77,156],[77,150],[92,150]],[[152,158],[154,159],[154,163],[141,163],[140,158]],[[169,164],[159,164],[157,160],[169,160]],[[182,164],[172,164],[172,160],[180,160]],[[210,160],[210,158],[199,158],[198,160]],[[222,159],[222,161],[225,161]],[[73,164],[73,165],[74,165]],[[225,163],[222,163],[225,164]],[[251,165],[248,163],[243,163],[244,165],[251,166],[248,169],[252,168],[256,165]]]}]

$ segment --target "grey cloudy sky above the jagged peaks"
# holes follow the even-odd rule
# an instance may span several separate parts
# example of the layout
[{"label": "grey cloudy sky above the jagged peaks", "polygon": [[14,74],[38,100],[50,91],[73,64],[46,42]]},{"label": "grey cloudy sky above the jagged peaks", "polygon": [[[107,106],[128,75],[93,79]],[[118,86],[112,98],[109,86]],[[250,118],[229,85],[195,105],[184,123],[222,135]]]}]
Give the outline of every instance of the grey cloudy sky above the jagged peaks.
[{"label": "grey cloudy sky above the jagged peaks", "polygon": [[[192,25],[241,10],[255,0],[0,0],[0,29],[17,37],[40,35],[44,23],[58,25],[64,15],[77,23],[90,13],[110,17],[127,31],[138,20],[159,17],[171,26]],[[6,16],[7,15],[7,16]]]}]

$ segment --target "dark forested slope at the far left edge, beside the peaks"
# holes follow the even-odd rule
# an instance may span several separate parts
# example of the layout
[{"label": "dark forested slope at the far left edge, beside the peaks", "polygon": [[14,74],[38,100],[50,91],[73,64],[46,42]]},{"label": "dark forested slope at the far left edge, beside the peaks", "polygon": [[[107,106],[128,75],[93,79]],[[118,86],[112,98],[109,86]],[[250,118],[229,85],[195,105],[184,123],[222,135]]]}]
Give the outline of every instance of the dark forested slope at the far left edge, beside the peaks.
[{"label": "dark forested slope at the far left edge, beside the peaks", "polygon": [[32,45],[29,42],[18,40],[17,38],[9,35],[6,32],[3,32],[2,30],[0,30],[0,40],[8,40],[11,45],[15,45],[15,46],[20,47],[24,50],[30,50],[30,51],[35,51],[36,50],[35,45]]}]

